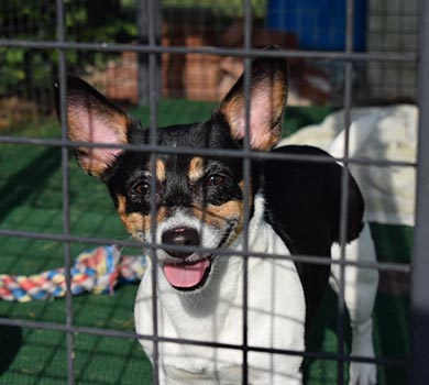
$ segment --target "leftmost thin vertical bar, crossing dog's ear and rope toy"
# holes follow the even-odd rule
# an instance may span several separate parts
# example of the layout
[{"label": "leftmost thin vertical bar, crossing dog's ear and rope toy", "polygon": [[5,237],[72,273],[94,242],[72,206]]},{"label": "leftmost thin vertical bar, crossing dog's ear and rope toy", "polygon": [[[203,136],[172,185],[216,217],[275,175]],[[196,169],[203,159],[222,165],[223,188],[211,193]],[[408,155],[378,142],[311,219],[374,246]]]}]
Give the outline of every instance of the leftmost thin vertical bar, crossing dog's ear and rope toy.
[{"label": "leftmost thin vertical bar, crossing dog's ear and rope toy", "polygon": [[[56,24],[57,41],[65,42],[65,12],[63,0],[56,0]],[[64,50],[58,50],[58,68],[59,68],[59,111],[62,123],[62,139],[67,141],[67,84],[66,84],[66,57]],[[68,147],[62,147],[62,185],[63,185],[63,233],[70,234],[70,196],[69,196],[69,172],[68,172]],[[72,255],[70,244],[64,243],[64,265],[66,273],[66,324],[73,326],[73,298],[72,298]],[[67,384],[75,383],[75,363],[74,363],[74,334],[67,332]]]}]

